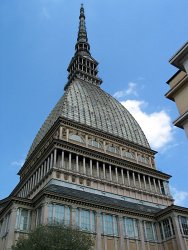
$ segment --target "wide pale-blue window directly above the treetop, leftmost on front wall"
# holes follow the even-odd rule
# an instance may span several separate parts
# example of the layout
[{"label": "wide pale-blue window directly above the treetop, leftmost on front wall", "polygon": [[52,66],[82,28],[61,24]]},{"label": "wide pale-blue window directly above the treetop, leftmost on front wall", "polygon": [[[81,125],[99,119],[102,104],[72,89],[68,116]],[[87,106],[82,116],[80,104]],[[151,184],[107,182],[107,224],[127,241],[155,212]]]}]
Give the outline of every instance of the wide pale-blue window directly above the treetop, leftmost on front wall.
[{"label": "wide pale-blue window directly above the treetop, leftmost on front wall", "polygon": [[59,204],[48,205],[48,222],[70,224],[70,208]]}]

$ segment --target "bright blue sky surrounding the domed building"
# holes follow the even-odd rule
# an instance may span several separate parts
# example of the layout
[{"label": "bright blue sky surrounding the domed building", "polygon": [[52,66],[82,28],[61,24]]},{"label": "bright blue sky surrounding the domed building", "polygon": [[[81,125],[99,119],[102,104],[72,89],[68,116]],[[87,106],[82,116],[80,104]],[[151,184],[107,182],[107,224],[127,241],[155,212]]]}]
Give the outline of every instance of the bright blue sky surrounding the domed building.
[{"label": "bright blue sky surrounding the domed building", "polygon": [[[176,72],[169,58],[188,37],[187,0],[85,0],[91,52],[102,88],[144,127],[158,169],[171,174],[176,202],[188,206],[188,154],[174,128],[175,103],[164,94]],[[38,129],[63,94],[74,54],[81,2],[0,1],[0,199],[18,172]]]}]

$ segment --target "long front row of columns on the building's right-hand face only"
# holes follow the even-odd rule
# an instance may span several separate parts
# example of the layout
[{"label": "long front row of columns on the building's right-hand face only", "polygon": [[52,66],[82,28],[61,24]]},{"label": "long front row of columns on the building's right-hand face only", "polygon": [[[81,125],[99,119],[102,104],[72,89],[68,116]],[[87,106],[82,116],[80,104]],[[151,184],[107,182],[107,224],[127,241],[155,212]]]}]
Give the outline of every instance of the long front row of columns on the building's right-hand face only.
[{"label": "long front row of columns on the building's right-hand face only", "polygon": [[71,152],[62,151],[56,167],[153,193],[170,195],[165,180]]}]

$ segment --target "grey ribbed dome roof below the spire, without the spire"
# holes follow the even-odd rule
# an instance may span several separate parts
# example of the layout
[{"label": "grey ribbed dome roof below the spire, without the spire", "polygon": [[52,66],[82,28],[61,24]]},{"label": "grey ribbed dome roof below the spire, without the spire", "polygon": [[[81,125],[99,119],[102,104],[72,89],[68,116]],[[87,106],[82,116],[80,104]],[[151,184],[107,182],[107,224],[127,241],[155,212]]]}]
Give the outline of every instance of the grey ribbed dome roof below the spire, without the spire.
[{"label": "grey ribbed dome roof below the spire, without the spire", "polygon": [[28,156],[59,117],[85,124],[105,133],[150,148],[134,117],[100,87],[77,79],[66,89],[36,135]]}]

